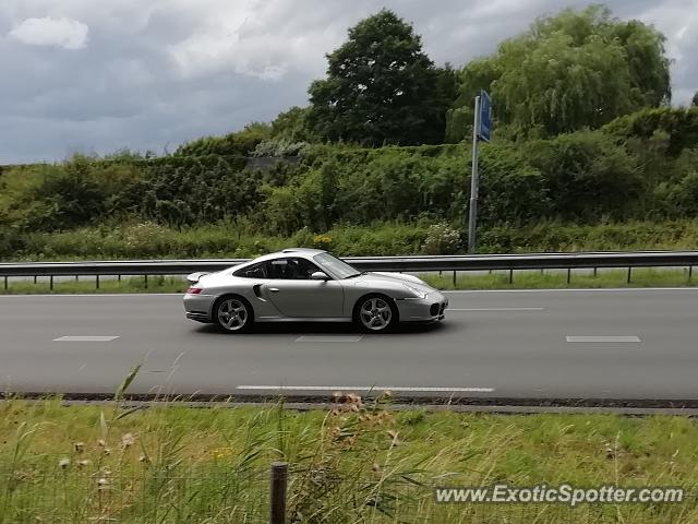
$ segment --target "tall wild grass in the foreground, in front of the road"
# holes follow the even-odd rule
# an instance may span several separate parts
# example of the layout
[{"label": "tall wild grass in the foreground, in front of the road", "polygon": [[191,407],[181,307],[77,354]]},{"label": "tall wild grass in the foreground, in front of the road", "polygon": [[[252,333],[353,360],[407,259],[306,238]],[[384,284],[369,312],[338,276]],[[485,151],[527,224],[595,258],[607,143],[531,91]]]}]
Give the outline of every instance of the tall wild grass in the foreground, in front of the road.
[{"label": "tall wild grass in the foreground, in front of the road", "polygon": [[[384,397],[385,398],[385,397]],[[681,504],[436,504],[433,486],[698,485],[684,417],[0,402],[0,522],[265,522],[268,466],[313,523],[698,522]]]}]

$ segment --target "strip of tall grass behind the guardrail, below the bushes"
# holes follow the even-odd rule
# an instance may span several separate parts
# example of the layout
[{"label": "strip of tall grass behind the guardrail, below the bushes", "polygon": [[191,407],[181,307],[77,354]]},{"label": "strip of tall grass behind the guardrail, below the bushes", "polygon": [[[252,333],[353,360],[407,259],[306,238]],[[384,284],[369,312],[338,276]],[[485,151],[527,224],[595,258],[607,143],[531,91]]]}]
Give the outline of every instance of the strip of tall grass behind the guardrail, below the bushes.
[{"label": "strip of tall grass behind the guardrail, below the bushes", "polygon": [[[0,260],[251,258],[288,247],[326,249],[340,257],[460,252],[458,245],[462,246],[464,239],[450,236],[458,231],[430,231],[430,225],[431,222],[344,225],[322,233],[300,229],[290,236],[260,234],[258,226],[245,221],[181,230],[136,223],[13,233],[14,237],[3,237],[0,231]],[[698,221],[587,226],[551,222],[488,227],[480,230],[478,247],[482,253],[690,250],[698,248]]]}]

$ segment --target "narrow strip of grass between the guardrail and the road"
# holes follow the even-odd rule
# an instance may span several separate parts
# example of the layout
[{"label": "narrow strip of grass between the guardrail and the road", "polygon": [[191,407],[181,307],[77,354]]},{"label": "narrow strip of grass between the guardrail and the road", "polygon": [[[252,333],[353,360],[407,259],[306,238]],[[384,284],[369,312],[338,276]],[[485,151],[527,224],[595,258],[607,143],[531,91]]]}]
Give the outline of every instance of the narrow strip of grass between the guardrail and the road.
[{"label": "narrow strip of grass between the guardrail and the road", "polygon": [[[627,282],[627,270],[600,271],[595,276],[591,270],[579,273],[573,272],[569,283],[567,273],[561,271],[532,272],[518,271],[512,275],[508,272],[492,274],[458,273],[454,284],[453,272],[422,275],[423,279],[437,289],[564,289],[570,288],[602,288],[602,287],[681,287],[695,286],[696,278],[688,277],[687,270],[633,270],[630,282]],[[50,288],[48,278],[33,281],[10,279],[8,288],[0,288],[0,295],[31,295],[31,294],[80,294],[80,293],[184,293],[189,284],[183,278],[151,276],[147,284],[144,277],[131,277],[117,281],[116,278],[99,282],[96,288],[95,278],[86,277],[81,281],[56,281]]]}]

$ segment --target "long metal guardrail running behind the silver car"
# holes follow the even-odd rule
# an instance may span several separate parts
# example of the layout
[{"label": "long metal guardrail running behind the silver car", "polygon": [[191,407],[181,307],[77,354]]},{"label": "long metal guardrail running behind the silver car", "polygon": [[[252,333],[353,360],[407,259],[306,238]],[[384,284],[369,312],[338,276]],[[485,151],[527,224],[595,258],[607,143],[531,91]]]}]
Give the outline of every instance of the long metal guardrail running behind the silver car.
[{"label": "long metal guardrail running behind the silver car", "polygon": [[[213,272],[249,259],[136,260],[98,262],[5,262],[0,276],[185,275]],[[478,254],[448,257],[347,257],[362,271],[486,271],[597,267],[679,267],[698,265],[698,251]]]}]

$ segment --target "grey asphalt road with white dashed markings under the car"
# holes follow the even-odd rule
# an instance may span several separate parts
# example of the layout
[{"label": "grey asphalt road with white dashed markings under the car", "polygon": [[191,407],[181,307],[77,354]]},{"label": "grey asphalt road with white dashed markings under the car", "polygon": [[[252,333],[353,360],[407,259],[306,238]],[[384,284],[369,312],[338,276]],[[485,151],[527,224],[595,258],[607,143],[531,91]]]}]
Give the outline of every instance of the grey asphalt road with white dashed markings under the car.
[{"label": "grey asphalt road with white dashed markings under the car", "polygon": [[[178,295],[2,296],[0,388],[111,393],[143,361],[133,393],[698,400],[698,289],[448,296],[442,324],[388,335],[227,335],[185,320]],[[105,338],[57,341],[75,336]]]}]

